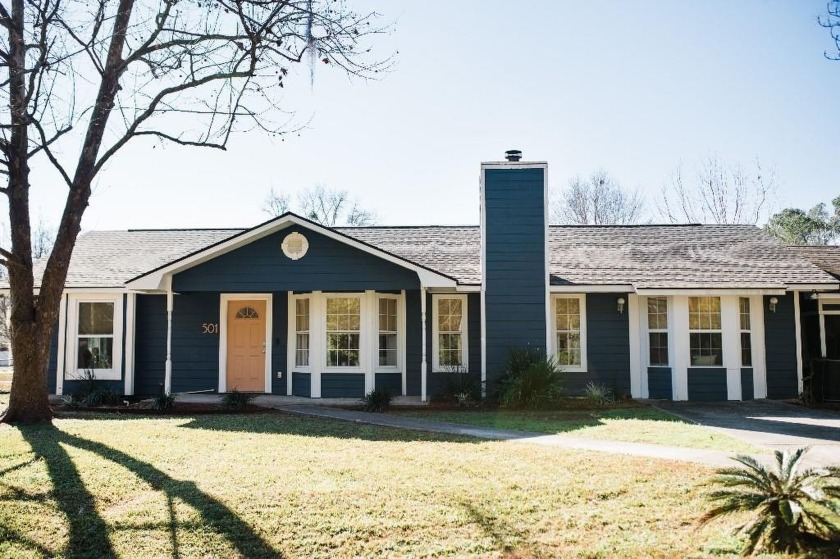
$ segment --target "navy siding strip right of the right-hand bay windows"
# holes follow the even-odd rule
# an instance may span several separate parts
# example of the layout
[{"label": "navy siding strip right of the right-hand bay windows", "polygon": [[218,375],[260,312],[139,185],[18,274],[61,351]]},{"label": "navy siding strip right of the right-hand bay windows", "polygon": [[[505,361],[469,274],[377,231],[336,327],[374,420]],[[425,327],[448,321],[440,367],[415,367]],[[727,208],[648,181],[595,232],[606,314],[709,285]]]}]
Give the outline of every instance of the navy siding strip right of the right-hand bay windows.
[{"label": "navy siding strip right of the right-hand bay windows", "polygon": [[795,398],[796,322],[793,294],[777,295],[776,312],[770,312],[770,297],[764,297],[764,344],[767,355],[767,397]]}]

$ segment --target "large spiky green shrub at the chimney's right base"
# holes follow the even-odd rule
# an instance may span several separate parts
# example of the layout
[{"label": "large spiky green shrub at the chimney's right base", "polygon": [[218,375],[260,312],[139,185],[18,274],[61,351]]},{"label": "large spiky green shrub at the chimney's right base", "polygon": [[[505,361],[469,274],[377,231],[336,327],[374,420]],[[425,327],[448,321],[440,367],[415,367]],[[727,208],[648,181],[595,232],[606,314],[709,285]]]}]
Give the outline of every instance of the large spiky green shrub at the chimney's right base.
[{"label": "large spiky green shrub at the chimney's right base", "polygon": [[557,404],[563,395],[562,370],[537,348],[512,348],[504,373],[491,395],[503,406],[542,408]]}]

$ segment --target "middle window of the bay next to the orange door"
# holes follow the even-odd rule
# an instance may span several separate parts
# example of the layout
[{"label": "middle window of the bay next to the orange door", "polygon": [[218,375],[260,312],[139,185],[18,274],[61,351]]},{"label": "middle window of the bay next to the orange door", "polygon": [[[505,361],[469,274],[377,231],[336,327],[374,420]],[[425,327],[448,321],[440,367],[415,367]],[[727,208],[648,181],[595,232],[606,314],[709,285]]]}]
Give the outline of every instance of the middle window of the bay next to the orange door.
[{"label": "middle window of the bay next to the orange door", "polygon": [[361,365],[361,299],[327,298],[327,367]]}]

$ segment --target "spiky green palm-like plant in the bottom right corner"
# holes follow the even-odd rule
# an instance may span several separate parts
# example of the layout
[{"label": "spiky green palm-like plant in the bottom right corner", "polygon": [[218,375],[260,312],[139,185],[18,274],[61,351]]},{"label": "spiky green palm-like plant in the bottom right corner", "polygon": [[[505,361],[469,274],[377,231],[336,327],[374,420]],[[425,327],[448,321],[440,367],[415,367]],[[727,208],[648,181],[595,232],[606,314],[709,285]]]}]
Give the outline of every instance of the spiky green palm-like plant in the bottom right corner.
[{"label": "spiky green palm-like plant in the bottom right corner", "polygon": [[734,458],[743,468],[722,468],[715,481],[723,489],[709,494],[715,507],[702,522],[736,512],[754,517],[738,528],[747,535],[744,555],[758,549],[801,552],[840,539],[840,468],[800,471],[807,451],[776,451],[770,470],[750,456]]}]

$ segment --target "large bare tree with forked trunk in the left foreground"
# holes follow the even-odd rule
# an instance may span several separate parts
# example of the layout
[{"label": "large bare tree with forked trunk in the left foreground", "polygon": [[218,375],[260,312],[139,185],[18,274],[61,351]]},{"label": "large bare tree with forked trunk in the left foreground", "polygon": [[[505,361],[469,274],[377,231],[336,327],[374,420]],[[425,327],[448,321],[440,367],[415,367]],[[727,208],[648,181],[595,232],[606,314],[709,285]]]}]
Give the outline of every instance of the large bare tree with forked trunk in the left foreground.
[{"label": "large bare tree with forked trunk in the left foreground", "polygon": [[[290,65],[362,77],[374,13],[329,0],[10,0],[0,3],[0,192],[9,203],[16,366],[2,421],[49,421],[46,368],[67,267],[91,183],[131,140],[224,150],[237,132],[288,127],[281,88]],[[55,245],[34,296],[30,169],[67,186]]]}]

